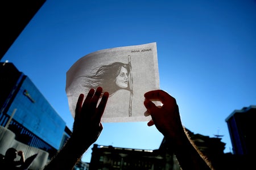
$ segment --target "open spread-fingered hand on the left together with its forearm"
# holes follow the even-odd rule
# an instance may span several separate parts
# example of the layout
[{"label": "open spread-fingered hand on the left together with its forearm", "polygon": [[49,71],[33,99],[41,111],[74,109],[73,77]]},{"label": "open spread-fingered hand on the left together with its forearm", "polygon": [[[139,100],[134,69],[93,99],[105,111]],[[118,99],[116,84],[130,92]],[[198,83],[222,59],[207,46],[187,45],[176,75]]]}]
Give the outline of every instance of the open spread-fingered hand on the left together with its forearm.
[{"label": "open spread-fingered hand on the left together with its forearm", "polygon": [[[96,91],[90,89],[85,100],[84,95],[80,94],[76,104],[71,138],[68,139],[64,147],[44,167],[44,170],[73,169],[75,164],[81,159],[82,154],[98,139],[103,129],[101,117],[109,97],[109,93],[104,92],[97,107],[101,94],[101,87],[98,87]],[[83,100],[84,103],[82,102]]]}]

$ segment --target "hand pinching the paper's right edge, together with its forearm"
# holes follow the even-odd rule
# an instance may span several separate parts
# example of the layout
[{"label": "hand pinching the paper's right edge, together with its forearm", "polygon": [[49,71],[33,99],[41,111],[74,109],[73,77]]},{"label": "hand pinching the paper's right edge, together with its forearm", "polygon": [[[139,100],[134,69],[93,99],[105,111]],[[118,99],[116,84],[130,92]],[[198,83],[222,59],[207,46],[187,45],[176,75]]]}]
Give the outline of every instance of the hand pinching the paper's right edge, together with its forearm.
[{"label": "hand pinching the paper's right edge, together with its forearm", "polygon": [[[167,139],[170,147],[182,169],[211,169],[210,163],[204,155],[197,150],[189,140],[180,120],[179,107],[174,97],[163,90],[149,91],[144,94],[144,105],[151,115],[147,125],[155,125]],[[152,101],[160,101],[162,105],[156,106]]]}]

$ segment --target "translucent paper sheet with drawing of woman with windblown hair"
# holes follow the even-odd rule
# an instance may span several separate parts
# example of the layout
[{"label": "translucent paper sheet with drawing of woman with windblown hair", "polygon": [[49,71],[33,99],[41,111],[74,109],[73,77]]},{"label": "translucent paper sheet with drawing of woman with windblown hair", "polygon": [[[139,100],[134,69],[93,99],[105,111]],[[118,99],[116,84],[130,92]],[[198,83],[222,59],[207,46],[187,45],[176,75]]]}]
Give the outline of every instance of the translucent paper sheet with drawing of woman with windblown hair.
[{"label": "translucent paper sheet with drawing of woman with windblown hair", "polygon": [[102,122],[150,120],[143,101],[145,92],[159,89],[156,42],[99,50],[75,62],[66,82],[73,117],[79,95],[98,86],[110,94]]}]

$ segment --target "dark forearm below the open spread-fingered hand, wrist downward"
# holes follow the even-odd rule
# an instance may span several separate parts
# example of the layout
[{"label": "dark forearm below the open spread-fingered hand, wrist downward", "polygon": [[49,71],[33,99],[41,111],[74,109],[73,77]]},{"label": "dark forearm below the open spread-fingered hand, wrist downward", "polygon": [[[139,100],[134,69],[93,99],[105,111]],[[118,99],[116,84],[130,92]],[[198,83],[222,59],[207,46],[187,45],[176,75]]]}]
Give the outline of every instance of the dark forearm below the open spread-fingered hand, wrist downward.
[{"label": "dark forearm below the open spread-fingered hand, wrist downward", "polygon": [[73,169],[75,164],[81,159],[82,154],[92,145],[90,143],[80,143],[80,141],[72,137],[69,138],[64,147],[44,167],[44,170]]}]

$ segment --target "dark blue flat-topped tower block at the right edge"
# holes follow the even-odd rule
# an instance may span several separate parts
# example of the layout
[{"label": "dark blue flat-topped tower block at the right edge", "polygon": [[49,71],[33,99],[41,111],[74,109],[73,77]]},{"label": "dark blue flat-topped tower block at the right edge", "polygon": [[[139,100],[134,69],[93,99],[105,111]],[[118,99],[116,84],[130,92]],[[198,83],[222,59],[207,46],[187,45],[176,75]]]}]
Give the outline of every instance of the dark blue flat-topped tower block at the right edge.
[{"label": "dark blue flat-topped tower block at the right edge", "polygon": [[227,118],[229,135],[233,153],[236,155],[253,155],[256,152],[254,126],[256,119],[256,105],[233,111]]}]

